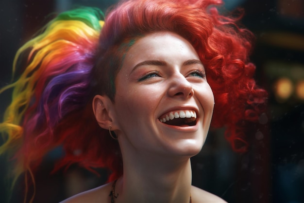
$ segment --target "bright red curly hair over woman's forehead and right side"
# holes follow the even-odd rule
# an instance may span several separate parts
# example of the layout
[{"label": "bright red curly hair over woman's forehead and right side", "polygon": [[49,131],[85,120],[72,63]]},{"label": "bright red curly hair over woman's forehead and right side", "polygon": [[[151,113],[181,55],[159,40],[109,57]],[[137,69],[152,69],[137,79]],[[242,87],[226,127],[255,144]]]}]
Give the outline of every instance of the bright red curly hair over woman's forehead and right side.
[{"label": "bright red curly hair over woman's forehead and right side", "polygon": [[253,34],[237,26],[240,17],[224,17],[210,7],[221,3],[220,0],[120,3],[108,13],[101,31],[99,58],[92,70],[94,93],[106,94],[115,102],[114,81],[128,48],[138,37],[149,33],[176,33],[192,44],[206,69],[215,97],[211,125],[226,127],[225,136],[232,148],[246,151],[249,146],[246,129],[265,110],[267,93],[257,88],[253,79],[255,66],[249,62]]}]

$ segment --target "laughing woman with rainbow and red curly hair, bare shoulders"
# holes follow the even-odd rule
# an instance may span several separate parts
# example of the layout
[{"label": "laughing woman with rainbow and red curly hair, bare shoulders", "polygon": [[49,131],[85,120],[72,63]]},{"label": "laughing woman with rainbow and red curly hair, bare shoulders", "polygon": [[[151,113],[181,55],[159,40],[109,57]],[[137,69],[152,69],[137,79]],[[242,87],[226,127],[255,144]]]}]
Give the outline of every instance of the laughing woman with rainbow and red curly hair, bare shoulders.
[{"label": "laughing woman with rainbow and red curly hair, bare shoulders", "polygon": [[1,90],[14,88],[0,152],[14,153],[16,178],[28,171],[34,182],[43,156],[63,146],[55,170],[111,171],[107,185],[64,202],[224,202],[191,186],[190,157],[203,147],[213,108],[212,125],[246,150],[245,127],[266,92],[248,60],[252,34],[210,7],[220,3],[129,0],[104,22],[93,8],[52,20],[17,52],[14,67],[26,68]]}]

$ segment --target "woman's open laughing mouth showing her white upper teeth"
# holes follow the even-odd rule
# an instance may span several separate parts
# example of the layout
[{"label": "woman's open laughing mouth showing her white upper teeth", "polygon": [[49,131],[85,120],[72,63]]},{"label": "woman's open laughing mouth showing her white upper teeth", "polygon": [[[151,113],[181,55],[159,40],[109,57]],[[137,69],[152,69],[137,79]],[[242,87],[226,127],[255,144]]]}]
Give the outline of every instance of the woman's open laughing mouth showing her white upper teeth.
[{"label": "woman's open laughing mouth showing her white upper teeth", "polygon": [[162,115],[158,120],[170,126],[195,126],[196,112],[192,110],[171,111],[168,114]]}]

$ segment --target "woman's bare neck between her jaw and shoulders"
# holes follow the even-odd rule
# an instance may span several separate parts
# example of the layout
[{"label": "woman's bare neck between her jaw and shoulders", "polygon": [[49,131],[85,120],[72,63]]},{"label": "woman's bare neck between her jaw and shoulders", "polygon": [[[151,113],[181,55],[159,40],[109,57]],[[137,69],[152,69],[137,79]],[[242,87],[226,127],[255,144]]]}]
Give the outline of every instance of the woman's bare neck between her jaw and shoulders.
[{"label": "woman's bare neck between her jaw and shoulders", "polygon": [[[132,157],[132,156],[131,156]],[[124,175],[116,184],[116,203],[188,203],[191,189],[190,159],[123,157]]]}]

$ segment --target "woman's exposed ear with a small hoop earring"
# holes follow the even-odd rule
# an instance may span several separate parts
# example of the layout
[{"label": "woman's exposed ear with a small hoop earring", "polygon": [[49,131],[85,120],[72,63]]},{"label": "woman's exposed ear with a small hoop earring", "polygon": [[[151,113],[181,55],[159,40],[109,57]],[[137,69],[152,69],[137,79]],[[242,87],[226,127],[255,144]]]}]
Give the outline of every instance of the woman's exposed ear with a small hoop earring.
[{"label": "woman's exposed ear with a small hoop earring", "polygon": [[93,111],[97,123],[103,129],[113,126],[113,103],[108,96],[95,95],[93,99]]}]

